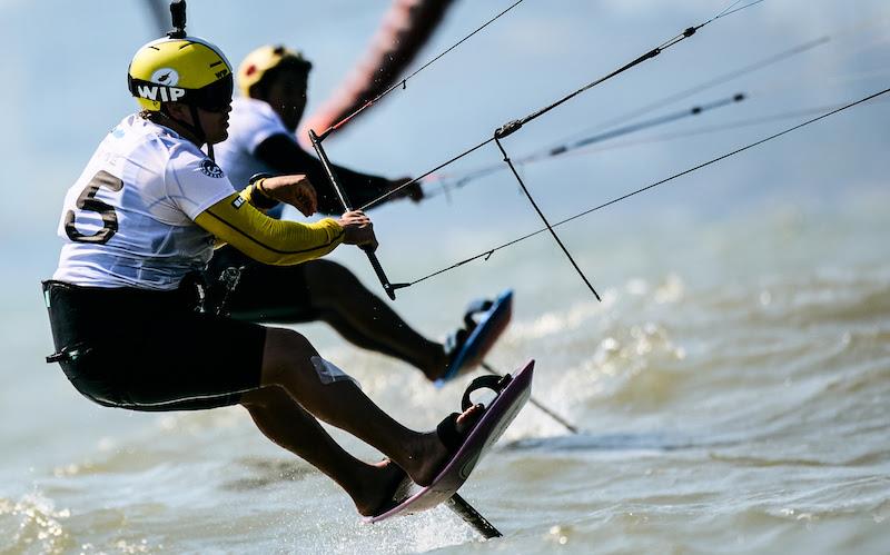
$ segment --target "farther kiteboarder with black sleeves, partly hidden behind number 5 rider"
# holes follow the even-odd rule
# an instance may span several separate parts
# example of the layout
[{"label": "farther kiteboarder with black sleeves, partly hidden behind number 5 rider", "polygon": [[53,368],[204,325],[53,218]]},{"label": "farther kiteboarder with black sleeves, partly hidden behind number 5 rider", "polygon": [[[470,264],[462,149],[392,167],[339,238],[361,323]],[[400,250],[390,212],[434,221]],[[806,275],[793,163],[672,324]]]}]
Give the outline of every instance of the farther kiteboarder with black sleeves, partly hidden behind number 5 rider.
[{"label": "farther kiteboarder with black sleeves, partly hidden behind number 5 rider", "polygon": [[[315,188],[318,211],[336,215],[342,206],[322,162],[300,148],[295,136],[306,107],[310,69],[312,63],[300,52],[280,44],[250,52],[238,68],[236,85],[241,97],[234,99],[229,137],[216,147],[216,159],[235,187],[244,186],[256,175],[306,175]],[[335,171],[356,206],[409,181],[388,180],[339,166]],[[394,197],[419,200],[423,191],[415,184],[390,199]],[[280,217],[281,209],[281,204],[269,204],[268,214]],[[472,318],[451,333],[444,344],[428,339],[352,271],[334,261],[270,266],[227,246],[215,252],[207,280],[217,303],[225,305],[222,310],[234,318],[287,324],[323,320],[353,344],[399,358],[423,370],[431,380],[454,376],[477,364],[468,360],[471,364],[464,365],[459,356],[473,331]]]}]

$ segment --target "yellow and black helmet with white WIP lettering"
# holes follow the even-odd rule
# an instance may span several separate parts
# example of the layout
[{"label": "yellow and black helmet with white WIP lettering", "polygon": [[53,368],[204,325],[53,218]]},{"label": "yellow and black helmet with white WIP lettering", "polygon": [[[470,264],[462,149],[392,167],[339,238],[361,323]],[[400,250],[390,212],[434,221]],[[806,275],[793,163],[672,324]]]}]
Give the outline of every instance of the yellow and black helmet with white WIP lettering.
[{"label": "yellow and black helmet with white WIP lettering", "polygon": [[127,73],[130,93],[145,110],[182,102],[211,111],[231,102],[231,65],[219,48],[195,37],[162,38],[140,48]]}]

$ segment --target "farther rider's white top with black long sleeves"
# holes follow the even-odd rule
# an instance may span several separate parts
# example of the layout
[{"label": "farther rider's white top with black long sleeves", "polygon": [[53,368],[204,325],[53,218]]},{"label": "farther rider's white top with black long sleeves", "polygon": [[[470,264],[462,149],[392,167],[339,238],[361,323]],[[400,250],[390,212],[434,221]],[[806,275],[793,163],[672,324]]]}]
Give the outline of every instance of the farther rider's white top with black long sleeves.
[{"label": "farther rider's white top with black long sleeves", "polygon": [[[305,174],[318,195],[318,211],[343,214],[322,162],[300,148],[281,118],[263,100],[235,98],[229,115],[229,137],[214,149],[219,166],[236,188],[247,185],[255,174]],[[389,190],[389,181],[383,177],[340,166],[334,166],[334,171],[354,208]],[[280,216],[280,211],[270,214]]]}]

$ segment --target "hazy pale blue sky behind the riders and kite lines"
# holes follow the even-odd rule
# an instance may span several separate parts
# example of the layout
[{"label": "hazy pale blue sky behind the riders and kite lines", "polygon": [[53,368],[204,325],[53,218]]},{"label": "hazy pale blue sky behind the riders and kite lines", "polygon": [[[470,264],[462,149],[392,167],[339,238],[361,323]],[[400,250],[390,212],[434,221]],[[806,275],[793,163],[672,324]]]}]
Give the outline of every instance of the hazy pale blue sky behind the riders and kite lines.
[{"label": "hazy pale blue sky behind the riders and kite lines", "polygon": [[[511,3],[455,1],[416,66]],[[394,92],[332,139],[328,153],[356,169],[390,177],[418,175],[491,137],[504,122],[593,81],[730,3],[525,0],[412,79],[407,90]],[[362,56],[388,2],[189,0],[188,6],[190,32],[218,43],[235,65],[266,42],[303,49],[315,63],[312,111]],[[735,92],[750,95],[749,100],[635,137],[856,99],[890,82],[888,13],[886,0],[765,0],[713,22],[654,60],[567,102],[505,145],[514,158],[521,157],[825,36],[831,40],[819,48],[650,117]],[[65,190],[107,130],[135,110],[126,88],[127,65],[139,46],[156,38],[157,29],[144,3],[136,0],[4,0],[0,1],[0,31],[7,38],[6,86],[0,89],[7,132],[0,138],[4,152],[0,176],[14,199],[2,205],[0,244],[4,251],[16,252],[17,265],[51,270]],[[888,106],[862,107],[812,126],[683,178],[670,191],[660,189],[621,204],[611,217],[632,221],[672,207],[719,215],[759,209],[759,199],[778,194],[811,201],[882,188],[888,169],[883,156]],[[542,208],[558,219],[800,120],[565,157],[530,165],[523,171]],[[491,148],[449,170],[466,171],[498,160]],[[508,239],[537,226],[505,172],[455,191],[451,201],[439,197],[375,214],[387,240],[407,235],[426,240],[449,232]],[[507,217],[521,224],[507,225],[503,219]]]}]

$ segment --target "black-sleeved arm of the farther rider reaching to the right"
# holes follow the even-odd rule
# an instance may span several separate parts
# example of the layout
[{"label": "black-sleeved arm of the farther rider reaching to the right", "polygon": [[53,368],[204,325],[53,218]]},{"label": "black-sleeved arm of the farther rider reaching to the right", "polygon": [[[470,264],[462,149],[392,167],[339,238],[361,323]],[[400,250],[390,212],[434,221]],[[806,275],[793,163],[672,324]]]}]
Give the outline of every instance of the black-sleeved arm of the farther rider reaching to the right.
[{"label": "black-sleeved arm of the farther rider reaching to the right", "polygon": [[[330,186],[322,162],[303,150],[289,136],[273,135],[260,142],[254,153],[279,174],[305,174],[318,194],[318,211],[322,214],[332,215],[343,211],[343,206]],[[393,182],[383,177],[360,174],[340,166],[334,166],[334,171],[337,174],[346,196],[357,207],[380,197],[393,188]],[[399,196],[404,195],[394,195],[387,200]]]}]

